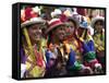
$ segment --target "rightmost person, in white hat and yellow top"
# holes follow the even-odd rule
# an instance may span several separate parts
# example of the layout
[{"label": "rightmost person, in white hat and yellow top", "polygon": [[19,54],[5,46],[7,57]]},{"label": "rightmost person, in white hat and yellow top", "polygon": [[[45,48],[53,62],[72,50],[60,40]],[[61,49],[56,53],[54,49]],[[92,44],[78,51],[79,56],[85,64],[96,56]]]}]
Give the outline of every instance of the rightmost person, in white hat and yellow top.
[{"label": "rightmost person, in white hat and yellow top", "polygon": [[105,19],[96,16],[92,20],[92,27],[94,28],[94,43],[97,52],[97,59],[102,64],[105,70]]}]

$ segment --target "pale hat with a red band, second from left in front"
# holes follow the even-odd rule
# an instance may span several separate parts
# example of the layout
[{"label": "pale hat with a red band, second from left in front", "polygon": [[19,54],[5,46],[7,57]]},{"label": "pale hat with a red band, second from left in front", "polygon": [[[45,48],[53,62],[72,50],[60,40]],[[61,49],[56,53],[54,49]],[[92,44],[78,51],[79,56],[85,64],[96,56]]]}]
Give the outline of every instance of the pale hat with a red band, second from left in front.
[{"label": "pale hat with a red band, second from left in front", "polygon": [[60,19],[52,19],[49,23],[49,28],[47,28],[46,34],[60,25],[65,25]]}]

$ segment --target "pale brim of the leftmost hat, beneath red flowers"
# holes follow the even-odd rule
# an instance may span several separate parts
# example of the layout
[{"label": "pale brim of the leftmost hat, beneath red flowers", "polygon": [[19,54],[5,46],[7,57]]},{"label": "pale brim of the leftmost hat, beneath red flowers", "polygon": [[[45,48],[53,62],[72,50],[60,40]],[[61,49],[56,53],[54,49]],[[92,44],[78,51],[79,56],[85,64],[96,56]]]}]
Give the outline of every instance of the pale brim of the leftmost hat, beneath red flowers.
[{"label": "pale brim of the leftmost hat, beneath red flowers", "polygon": [[26,26],[32,25],[32,24],[35,24],[35,23],[46,23],[46,21],[43,20],[41,17],[32,19],[29,21],[22,23],[21,28],[26,27]]}]

